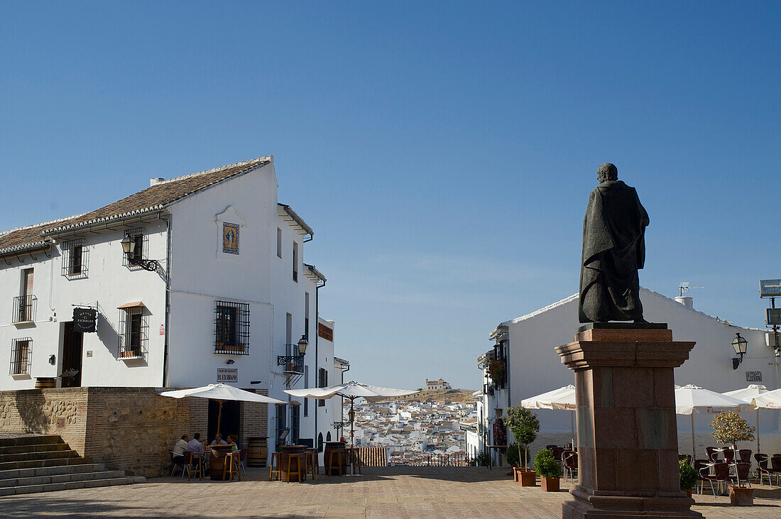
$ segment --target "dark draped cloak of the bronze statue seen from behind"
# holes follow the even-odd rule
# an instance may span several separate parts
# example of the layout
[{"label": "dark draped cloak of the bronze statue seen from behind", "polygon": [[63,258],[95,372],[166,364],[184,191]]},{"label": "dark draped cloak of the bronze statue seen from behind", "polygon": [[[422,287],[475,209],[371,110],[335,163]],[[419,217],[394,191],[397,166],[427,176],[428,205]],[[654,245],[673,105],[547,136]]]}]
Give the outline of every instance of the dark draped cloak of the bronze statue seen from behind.
[{"label": "dark draped cloak of the bronze statue seen from behind", "polygon": [[621,180],[591,191],[583,219],[580,322],[643,318],[640,277],[648,213],[637,191]]}]

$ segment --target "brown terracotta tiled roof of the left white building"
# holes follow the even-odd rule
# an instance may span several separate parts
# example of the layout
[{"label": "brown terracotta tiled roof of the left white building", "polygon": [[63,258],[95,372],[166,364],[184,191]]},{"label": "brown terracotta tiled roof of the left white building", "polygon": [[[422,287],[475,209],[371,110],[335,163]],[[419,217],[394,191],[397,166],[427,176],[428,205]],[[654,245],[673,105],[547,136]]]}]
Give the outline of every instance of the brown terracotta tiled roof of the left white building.
[{"label": "brown terracotta tiled roof of the left white building", "polygon": [[69,216],[65,219],[43,222],[34,226],[20,227],[0,233],[0,254],[14,251],[24,251],[45,246],[46,236],[68,229],[91,226],[95,223],[110,222],[142,215],[146,212],[159,211],[169,204],[205,189],[232,176],[241,175],[258,166],[269,164],[271,157],[254,158],[246,162],[225,165],[221,168],[180,176],[171,180],[163,180],[152,187],[124,197],[122,200],[105,205],[102,208],[81,215]]}]

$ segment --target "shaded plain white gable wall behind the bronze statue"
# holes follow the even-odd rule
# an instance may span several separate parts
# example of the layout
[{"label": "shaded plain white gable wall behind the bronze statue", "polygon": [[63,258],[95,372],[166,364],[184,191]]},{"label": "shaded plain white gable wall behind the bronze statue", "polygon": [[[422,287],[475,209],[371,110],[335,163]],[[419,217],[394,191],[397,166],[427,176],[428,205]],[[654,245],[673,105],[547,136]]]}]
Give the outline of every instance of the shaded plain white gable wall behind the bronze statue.
[{"label": "shaded plain white gable wall behind the bronze statue", "polygon": [[[762,384],[769,389],[779,387],[776,378],[777,359],[772,348],[765,346],[764,330],[744,329],[719,322],[697,311],[697,300],[694,300],[693,310],[651,290],[643,289],[641,297],[645,318],[648,321],[668,323],[674,340],[697,342],[690,353],[689,360],[680,368],[676,368],[676,384],[683,386],[693,383],[722,393],[746,387],[751,383],[746,382],[746,371],[761,371]],[[572,341],[575,330],[579,326],[577,304],[577,299],[573,299],[526,320],[508,322],[510,334],[508,363],[512,405],[530,396],[574,382],[572,371],[561,364],[554,348]],[[748,350],[743,364],[733,370],[731,359],[735,357],[735,353],[730,344],[736,332],[740,332],[740,335],[747,339]],[[492,403],[490,407],[493,407]],[[493,413],[492,409],[489,411]],[[540,418],[540,439],[537,440],[540,446],[556,443],[551,440],[558,441],[570,435],[569,411],[535,412]],[[754,425],[754,413],[746,414],[745,418]],[[715,444],[709,436],[711,432],[709,424],[712,419],[712,415],[695,416],[697,439],[702,439],[703,446]],[[691,450],[690,429],[690,417],[679,416],[679,449],[682,452],[687,453]],[[763,438],[767,435],[768,448],[778,445],[781,450],[781,443],[775,436],[779,433],[778,411],[762,411],[760,429]],[[781,436],[778,438],[781,439]],[[770,452],[764,447],[762,450]]]}]

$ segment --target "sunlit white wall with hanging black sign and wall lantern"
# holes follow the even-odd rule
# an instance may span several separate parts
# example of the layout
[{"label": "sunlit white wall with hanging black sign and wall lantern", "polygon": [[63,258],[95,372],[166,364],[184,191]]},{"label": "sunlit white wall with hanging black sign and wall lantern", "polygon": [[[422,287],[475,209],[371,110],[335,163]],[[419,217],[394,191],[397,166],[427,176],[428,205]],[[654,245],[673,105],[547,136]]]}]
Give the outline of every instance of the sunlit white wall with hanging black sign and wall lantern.
[{"label": "sunlit white wall with hanging black sign and wall lantern", "polygon": [[[166,224],[155,220],[145,224],[128,224],[128,228],[144,227],[148,235],[147,257],[162,260],[167,268]],[[82,386],[161,386],[162,336],[157,331],[165,319],[165,276],[141,268],[123,266],[121,230],[100,233],[81,232],[87,247],[87,274],[70,279],[62,275],[62,255],[59,244],[46,258],[41,251],[20,254],[25,261],[10,259],[12,265],[0,262],[0,362],[8,366],[13,338],[30,337],[32,362],[30,377],[12,377],[9,369],[0,370],[0,389],[30,389],[37,377],[56,377],[62,362],[62,329],[73,320],[73,304],[98,304],[98,332],[84,333],[82,349]],[[12,300],[20,294],[22,270],[34,268],[33,294],[37,297],[34,325],[12,325]],[[122,361],[118,356],[120,304],[142,301],[148,320],[148,355],[144,361]],[[90,353],[88,353],[90,352]],[[55,355],[55,364],[48,363]],[[91,354],[90,357],[87,357]]]}]

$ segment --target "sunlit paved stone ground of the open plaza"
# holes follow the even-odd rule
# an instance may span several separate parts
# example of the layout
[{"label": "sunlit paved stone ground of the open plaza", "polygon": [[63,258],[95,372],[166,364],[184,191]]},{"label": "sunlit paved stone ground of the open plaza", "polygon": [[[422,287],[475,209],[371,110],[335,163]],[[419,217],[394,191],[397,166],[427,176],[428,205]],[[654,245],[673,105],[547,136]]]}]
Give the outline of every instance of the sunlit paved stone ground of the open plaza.
[{"label": "sunlit paved stone ground of the open plaza", "polygon": [[[358,477],[318,475],[269,482],[248,469],[242,482],[153,478],[140,485],[0,498],[5,517],[561,517],[562,492],[522,488],[506,468],[366,468]],[[726,496],[694,496],[705,517],[781,517],[781,489],[757,487],[754,507]]]}]

